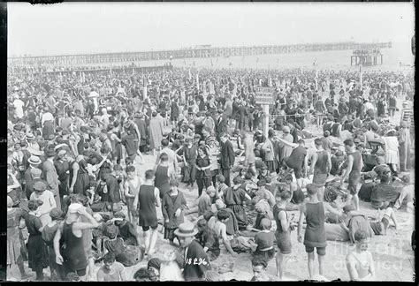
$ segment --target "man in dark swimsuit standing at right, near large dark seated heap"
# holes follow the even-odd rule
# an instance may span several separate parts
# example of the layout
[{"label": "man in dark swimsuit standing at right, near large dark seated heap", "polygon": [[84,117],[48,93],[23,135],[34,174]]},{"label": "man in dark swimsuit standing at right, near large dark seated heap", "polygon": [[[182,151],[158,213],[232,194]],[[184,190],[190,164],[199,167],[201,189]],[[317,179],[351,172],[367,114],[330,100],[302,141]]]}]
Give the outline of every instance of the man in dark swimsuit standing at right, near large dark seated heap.
[{"label": "man in dark swimsuit standing at right, near large dark seated heap", "polygon": [[358,184],[361,180],[361,169],[363,166],[362,154],[355,150],[354,141],[347,139],[344,142],[347,151],[347,169],[340,178],[340,185],[347,178],[347,205],[351,204],[354,199],[354,207],[359,210]]}]

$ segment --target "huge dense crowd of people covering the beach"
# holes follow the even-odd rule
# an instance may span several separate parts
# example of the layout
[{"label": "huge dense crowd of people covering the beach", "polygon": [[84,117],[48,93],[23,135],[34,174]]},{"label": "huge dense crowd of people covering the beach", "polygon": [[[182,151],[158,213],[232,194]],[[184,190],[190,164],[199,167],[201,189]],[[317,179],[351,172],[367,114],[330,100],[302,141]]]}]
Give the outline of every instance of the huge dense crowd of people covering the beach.
[{"label": "huge dense crowd of people covering the beach", "polygon": [[[302,243],[313,279],[314,249],[325,275],[326,241],[339,240],[356,245],[350,280],[376,279],[369,237],[397,228],[395,212],[414,204],[413,128],[388,118],[397,102],[412,106],[415,87],[412,73],[358,79],[301,69],[11,73],[9,269],[27,279],[27,261],[36,280],[49,268],[52,281],[219,281],[232,268],[214,266],[225,249],[251,252],[252,281],[273,279],[275,258],[283,280]],[[274,89],[267,136],[255,87]],[[161,233],[179,247],[167,260],[155,257]]]}]

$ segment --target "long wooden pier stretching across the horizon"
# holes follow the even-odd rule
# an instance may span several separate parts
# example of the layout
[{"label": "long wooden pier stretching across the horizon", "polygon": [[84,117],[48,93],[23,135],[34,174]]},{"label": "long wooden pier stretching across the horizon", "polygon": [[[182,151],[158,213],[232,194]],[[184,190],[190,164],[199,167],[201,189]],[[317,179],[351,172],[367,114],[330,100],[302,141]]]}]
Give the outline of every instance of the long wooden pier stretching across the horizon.
[{"label": "long wooden pier stretching across the horizon", "polygon": [[189,49],[171,49],[160,51],[141,51],[90,55],[66,56],[15,56],[8,58],[11,66],[80,66],[83,64],[109,65],[119,63],[137,63],[141,61],[156,61],[181,58],[202,58],[218,56],[255,56],[268,54],[289,54],[298,52],[349,50],[349,49],[374,49],[392,48],[392,42],[357,43],[354,41],[335,43],[312,43],[295,45],[253,46],[253,47],[227,47],[217,48],[198,46]]}]

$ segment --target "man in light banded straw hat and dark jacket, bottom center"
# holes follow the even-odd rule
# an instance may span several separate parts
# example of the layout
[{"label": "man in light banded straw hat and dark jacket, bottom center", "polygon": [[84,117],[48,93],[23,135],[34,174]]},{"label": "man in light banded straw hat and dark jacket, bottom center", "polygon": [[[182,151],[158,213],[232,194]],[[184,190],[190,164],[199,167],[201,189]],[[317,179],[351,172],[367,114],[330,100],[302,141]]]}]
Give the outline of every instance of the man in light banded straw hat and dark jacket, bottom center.
[{"label": "man in light banded straw hat and dark jacket, bottom center", "polygon": [[204,273],[211,270],[207,253],[194,239],[197,233],[198,230],[195,229],[192,222],[180,223],[179,228],[174,231],[175,236],[179,239],[180,247],[185,253],[183,267],[185,281],[200,281]]}]

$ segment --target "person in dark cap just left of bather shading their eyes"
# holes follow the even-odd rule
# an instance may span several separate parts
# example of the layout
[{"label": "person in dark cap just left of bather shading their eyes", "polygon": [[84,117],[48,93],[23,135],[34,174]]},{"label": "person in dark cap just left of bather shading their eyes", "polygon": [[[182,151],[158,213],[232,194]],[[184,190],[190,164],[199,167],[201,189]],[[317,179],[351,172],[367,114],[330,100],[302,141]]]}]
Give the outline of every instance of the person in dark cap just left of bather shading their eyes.
[{"label": "person in dark cap just left of bather shading their eyes", "polygon": [[60,222],[64,220],[64,213],[60,208],[53,208],[50,211],[51,222],[47,223],[42,230],[42,238],[48,246],[50,273],[53,281],[63,281],[63,269],[57,265],[56,252],[54,252],[54,237]]}]

